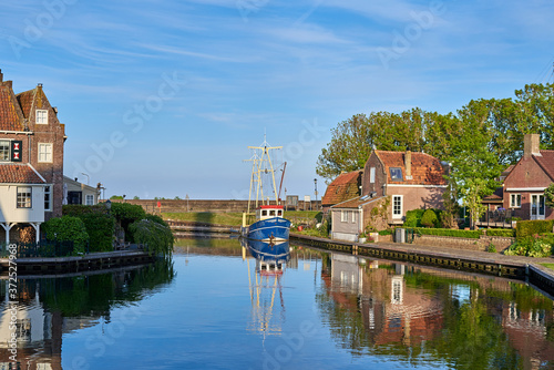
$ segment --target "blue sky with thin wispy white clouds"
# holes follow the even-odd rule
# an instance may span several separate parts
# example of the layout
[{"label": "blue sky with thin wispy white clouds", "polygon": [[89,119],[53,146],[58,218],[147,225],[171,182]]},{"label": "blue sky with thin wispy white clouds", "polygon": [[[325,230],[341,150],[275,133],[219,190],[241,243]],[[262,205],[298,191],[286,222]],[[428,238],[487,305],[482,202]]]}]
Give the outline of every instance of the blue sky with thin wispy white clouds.
[{"label": "blue sky with thin wispy white clouds", "polygon": [[[65,124],[64,173],[105,195],[247,199],[266,137],[285,195],[358,113],[455,112],[553,82],[552,0],[20,0],[0,69]],[[277,182],[283,174],[277,168]]]}]

